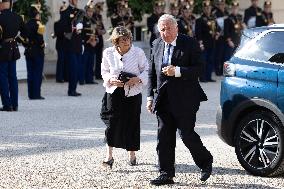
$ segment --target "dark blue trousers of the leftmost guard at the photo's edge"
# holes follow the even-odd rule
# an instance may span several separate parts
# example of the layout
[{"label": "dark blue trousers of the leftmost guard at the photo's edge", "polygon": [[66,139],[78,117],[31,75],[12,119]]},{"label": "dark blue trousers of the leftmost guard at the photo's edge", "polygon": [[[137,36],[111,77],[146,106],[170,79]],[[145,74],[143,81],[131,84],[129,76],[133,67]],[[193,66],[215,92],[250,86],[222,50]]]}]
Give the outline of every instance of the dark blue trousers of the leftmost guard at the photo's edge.
[{"label": "dark blue trousers of the leftmost guard at the photo's edge", "polygon": [[0,92],[4,107],[18,107],[16,61],[0,62]]}]

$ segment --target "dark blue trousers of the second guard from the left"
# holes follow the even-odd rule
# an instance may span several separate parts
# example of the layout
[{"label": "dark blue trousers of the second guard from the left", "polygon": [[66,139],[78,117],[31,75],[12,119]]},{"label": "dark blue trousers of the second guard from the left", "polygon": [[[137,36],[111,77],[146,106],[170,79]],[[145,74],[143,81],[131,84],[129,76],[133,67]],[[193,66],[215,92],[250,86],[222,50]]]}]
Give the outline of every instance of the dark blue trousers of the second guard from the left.
[{"label": "dark blue trousers of the second guard from the left", "polygon": [[28,71],[28,96],[29,98],[41,97],[41,84],[44,56],[26,57]]}]

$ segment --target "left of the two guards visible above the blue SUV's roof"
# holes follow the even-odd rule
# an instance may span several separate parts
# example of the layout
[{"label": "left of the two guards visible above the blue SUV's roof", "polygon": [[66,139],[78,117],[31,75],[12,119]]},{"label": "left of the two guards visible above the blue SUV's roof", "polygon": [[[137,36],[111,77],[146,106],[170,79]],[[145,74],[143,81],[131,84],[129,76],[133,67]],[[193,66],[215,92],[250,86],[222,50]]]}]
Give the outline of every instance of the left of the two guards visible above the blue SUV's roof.
[{"label": "left of the two guards visible above the blue SUV's roof", "polygon": [[256,26],[256,17],[261,16],[261,8],[258,7],[258,0],[251,0],[251,6],[245,10],[244,23],[247,28]]}]

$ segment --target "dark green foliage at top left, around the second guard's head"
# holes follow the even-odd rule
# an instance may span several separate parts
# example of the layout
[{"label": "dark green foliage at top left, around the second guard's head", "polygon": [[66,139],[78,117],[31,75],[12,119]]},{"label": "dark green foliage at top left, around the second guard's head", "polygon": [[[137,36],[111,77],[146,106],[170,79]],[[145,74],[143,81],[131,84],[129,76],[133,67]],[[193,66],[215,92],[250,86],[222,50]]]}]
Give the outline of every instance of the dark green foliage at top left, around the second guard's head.
[{"label": "dark green foliage at top left, around the second guard's head", "polygon": [[[51,16],[49,11],[49,7],[46,5],[45,0],[39,0],[41,3],[41,19],[42,22],[45,24],[48,21],[48,17]],[[37,3],[37,0],[17,0],[16,3],[13,5],[13,11],[17,12],[19,15],[24,15],[25,21],[29,19],[29,10],[31,4]]]}]

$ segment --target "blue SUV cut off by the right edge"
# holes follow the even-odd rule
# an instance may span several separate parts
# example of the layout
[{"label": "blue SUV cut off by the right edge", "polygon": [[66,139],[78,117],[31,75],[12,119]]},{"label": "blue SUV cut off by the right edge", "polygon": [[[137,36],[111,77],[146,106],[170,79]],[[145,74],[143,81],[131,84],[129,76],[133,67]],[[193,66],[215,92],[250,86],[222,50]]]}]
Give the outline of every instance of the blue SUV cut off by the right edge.
[{"label": "blue SUV cut off by the right edge", "polygon": [[284,172],[284,25],[244,30],[224,63],[217,127],[251,174]]}]

